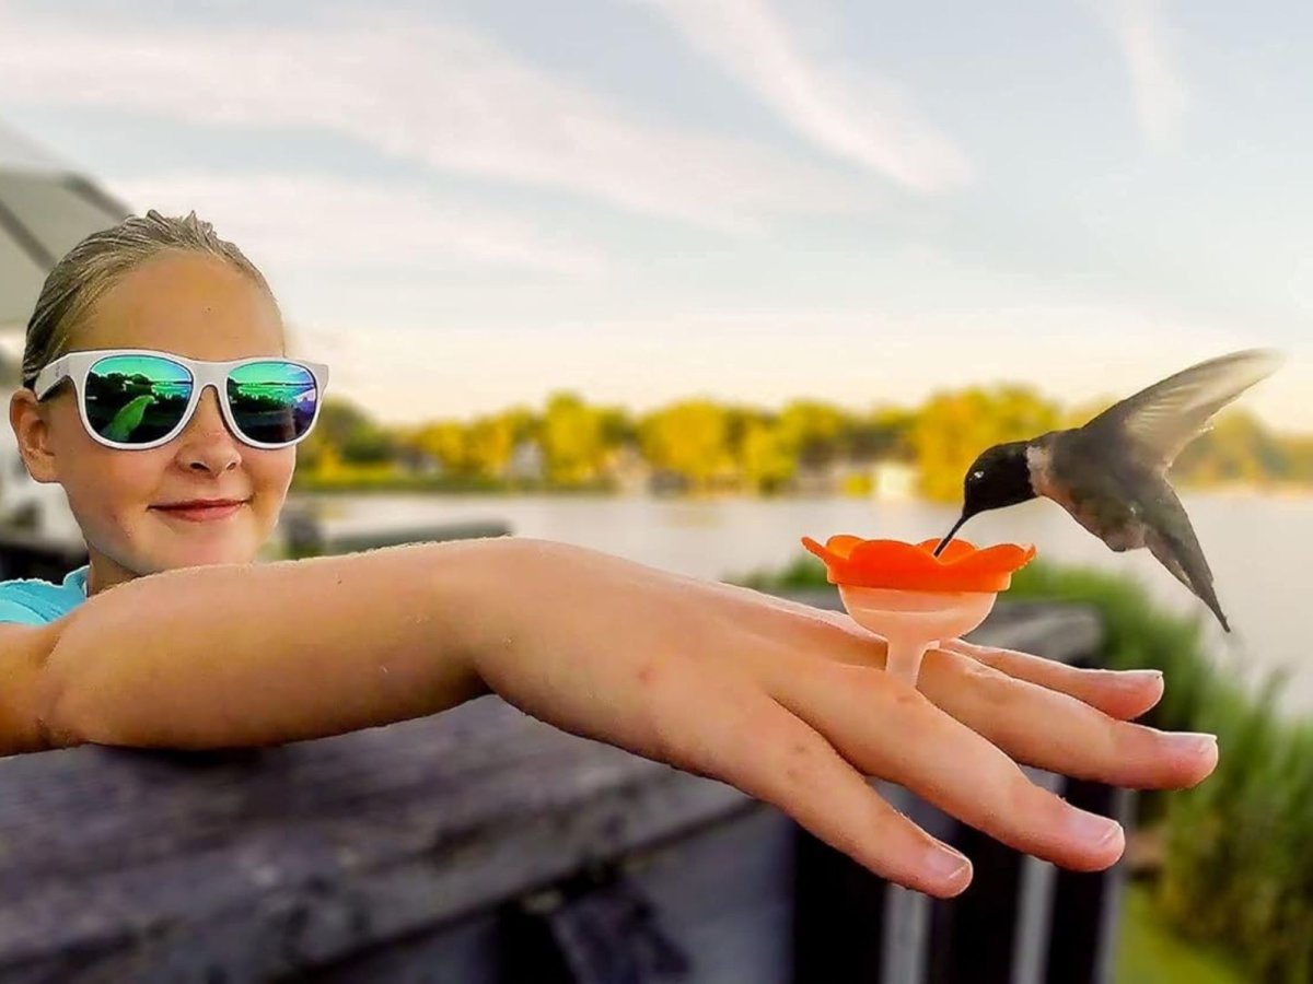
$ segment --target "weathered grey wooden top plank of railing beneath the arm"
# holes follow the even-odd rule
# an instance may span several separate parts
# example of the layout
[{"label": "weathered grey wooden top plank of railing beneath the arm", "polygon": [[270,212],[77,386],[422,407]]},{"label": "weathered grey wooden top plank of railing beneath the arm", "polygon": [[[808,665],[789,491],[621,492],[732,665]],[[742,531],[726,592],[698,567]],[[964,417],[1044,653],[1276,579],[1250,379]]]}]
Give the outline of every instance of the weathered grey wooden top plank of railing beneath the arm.
[{"label": "weathered grey wooden top plank of railing beneath the arm", "polygon": [[[1064,659],[1088,630],[1001,607],[981,638]],[[495,697],[281,748],[5,758],[0,789],[0,979],[18,981],[340,964],[765,810]]]}]

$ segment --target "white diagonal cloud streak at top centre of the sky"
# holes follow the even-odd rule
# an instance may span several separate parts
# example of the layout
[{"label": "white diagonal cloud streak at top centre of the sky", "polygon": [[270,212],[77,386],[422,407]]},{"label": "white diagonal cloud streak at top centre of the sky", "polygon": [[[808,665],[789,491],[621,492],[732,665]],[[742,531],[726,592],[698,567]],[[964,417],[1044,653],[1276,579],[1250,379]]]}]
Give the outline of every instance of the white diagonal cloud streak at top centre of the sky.
[{"label": "white diagonal cloud streak at top centre of the sky", "polygon": [[965,154],[895,84],[807,51],[769,0],[643,0],[689,43],[829,154],[918,192],[965,184]]}]

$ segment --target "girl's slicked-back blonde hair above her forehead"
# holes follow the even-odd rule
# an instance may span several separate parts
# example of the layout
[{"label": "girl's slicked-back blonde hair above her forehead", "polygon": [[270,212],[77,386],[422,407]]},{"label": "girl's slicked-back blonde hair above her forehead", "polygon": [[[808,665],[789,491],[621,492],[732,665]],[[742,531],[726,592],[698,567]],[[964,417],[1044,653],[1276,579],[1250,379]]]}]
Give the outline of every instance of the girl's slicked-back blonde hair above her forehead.
[{"label": "girl's slicked-back blonde hair above her forehead", "polygon": [[28,321],[22,384],[30,388],[46,365],[68,352],[77,328],[106,290],[147,260],[179,251],[223,260],[273,298],[256,265],[232,243],[219,239],[194,211],[186,218],[160,215],[154,209],[144,216],[131,215],[112,228],[92,232],[46,277]]}]

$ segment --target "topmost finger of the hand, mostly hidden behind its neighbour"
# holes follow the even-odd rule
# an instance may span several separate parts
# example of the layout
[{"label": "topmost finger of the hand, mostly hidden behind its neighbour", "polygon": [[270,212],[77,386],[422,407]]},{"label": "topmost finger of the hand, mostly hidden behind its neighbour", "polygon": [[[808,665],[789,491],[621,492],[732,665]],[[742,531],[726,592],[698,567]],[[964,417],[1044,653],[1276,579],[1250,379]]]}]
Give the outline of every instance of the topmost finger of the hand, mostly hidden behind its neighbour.
[{"label": "topmost finger of the hand, mostly hidden behind its neighbour", "polygon": [[947,640],[939,648],[968,656],[1010,677],[1070,694],[1123,720],[1138,718],[1162,699],[1162,673],[1155,669],[1085,669],[1028,652],[976,646],[962,639]]}]

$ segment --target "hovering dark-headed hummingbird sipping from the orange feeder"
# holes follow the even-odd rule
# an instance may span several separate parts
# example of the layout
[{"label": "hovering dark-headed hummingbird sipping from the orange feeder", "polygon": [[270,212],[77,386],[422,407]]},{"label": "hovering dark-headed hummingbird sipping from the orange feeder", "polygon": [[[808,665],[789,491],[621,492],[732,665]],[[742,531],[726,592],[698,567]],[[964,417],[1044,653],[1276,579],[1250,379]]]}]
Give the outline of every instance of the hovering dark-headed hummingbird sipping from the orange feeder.
[{"label": "hovering dark-headed hummingbird sipping from the orange feeder", "polygon": [[1220,356],[1128,396],[1083,426],[994,445],[968,468],[962,514],[935,555],[973,516],[1044,496],[1113,551],[1148,547],[1230,632],[1167,470],[1220,409],[1280,363],[1270,349]]}]

